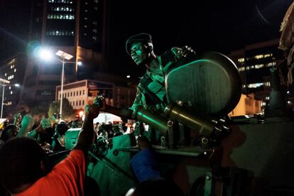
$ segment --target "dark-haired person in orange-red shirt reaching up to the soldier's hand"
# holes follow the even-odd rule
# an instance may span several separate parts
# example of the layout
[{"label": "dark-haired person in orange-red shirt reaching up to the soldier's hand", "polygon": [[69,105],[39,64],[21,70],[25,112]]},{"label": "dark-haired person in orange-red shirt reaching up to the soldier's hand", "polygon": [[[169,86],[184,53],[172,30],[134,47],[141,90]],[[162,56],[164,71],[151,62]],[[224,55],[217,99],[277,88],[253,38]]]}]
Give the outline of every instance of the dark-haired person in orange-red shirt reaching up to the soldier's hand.
[{"label": "dark-haired person in orange-red shirt reaching up to the soldier's hand", "polygon": [[69,156],[49,172],[45,152],[30,137],[14,137],[0,149],[0,183],[13,195],[84,195],[87,151],[92,144],[97,100],[85,107],[85,121]]}]

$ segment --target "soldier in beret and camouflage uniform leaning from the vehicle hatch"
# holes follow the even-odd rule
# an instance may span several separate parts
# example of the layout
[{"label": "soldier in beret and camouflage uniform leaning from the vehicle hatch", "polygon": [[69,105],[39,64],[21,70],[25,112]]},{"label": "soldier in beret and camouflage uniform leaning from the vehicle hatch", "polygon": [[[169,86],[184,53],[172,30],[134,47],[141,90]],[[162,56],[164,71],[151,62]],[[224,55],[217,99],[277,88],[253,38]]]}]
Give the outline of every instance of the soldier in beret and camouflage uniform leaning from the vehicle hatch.
[{"label": "soldier in beret and camouflage uniform leaning from the vehicle hatch", "polygon": [[126,40],[126,53],[131,56],[136,65],[146,67],[146,73],[137,87],[134,104],[130,109],[118,109],[104,104],[105,107],[102,110],[126,119],[134,119],[138,107],[162,115],[168,104],[165,92],[166,71],[176,63],[194,56],[195,51],[184,46],[183,48],[171,48],[163,55],[156,55],[153,51],[151,35],[139,33]]}]

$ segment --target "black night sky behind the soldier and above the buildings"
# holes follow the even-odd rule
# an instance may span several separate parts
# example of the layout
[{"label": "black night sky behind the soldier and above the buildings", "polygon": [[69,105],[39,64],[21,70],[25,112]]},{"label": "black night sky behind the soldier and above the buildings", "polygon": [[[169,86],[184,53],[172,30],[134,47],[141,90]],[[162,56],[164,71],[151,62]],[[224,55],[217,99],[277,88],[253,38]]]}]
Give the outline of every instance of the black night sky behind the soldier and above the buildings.
[{"label": "black night sky behind the soldier and above the buildings", "polygon": [[[109,72],[141,74],[142,69],[134,65],[125,51],[126,39],[136,33],[151,34],[157,55],[183,45],[190,45],[196,51],[227,54],[246,44],[279,38],[281,21],[291,2],[109,0]],[[1,60],[6,58],[6,53],[26,44],[28,24],[22,23],[22,18],[29,13],[21,12],[26,6],[28,1],[0,1],[0,41],[11,40],[1,48]]]}]

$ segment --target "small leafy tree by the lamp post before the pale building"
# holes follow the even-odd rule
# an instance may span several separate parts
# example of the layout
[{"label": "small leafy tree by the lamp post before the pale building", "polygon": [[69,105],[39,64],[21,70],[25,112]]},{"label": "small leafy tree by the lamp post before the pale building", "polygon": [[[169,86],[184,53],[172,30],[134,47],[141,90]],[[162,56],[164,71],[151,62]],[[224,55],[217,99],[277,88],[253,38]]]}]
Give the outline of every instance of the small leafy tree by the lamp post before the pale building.
[{"label": "small leafy tree by the lamp post before the pale building", "polygon": [[[60,110],[60,102],[58,103],[52,103],[50,104],[48,116],[50,119],[58,118]],[[53,117],[54,114],[57,114],[57,116]],[[74,119],[75,118],[75,111],[70,105],[70,102],[68,102],[68,99],[64,98],[62,100],[62,119]]]}]

